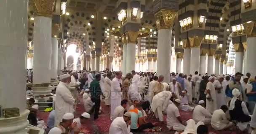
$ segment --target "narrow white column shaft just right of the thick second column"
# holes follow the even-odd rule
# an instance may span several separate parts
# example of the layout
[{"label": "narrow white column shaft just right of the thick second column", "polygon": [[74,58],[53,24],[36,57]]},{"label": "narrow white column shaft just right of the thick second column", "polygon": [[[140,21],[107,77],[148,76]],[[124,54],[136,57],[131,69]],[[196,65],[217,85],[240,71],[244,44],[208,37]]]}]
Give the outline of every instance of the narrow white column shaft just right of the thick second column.
[{"label": "narrow white column shaft just right of the thick second column", "polygon": [[51,78],[57,77],[58,70],[58,39],[51,38]]}]

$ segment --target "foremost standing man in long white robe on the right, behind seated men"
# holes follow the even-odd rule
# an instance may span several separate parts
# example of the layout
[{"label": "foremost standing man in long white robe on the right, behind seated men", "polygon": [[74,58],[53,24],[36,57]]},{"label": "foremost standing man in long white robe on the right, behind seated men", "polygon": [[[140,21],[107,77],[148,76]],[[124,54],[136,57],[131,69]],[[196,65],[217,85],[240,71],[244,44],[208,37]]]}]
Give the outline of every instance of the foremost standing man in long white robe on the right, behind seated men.
[{"label": "foremost standing man in long white robe on the right, behind seated men", "polygon": [[217,100],[215,87],[213,85],[214,78],[211,76],[208,78],[208,83],[206,85],[206,110],[213,113],[217,109]]}]

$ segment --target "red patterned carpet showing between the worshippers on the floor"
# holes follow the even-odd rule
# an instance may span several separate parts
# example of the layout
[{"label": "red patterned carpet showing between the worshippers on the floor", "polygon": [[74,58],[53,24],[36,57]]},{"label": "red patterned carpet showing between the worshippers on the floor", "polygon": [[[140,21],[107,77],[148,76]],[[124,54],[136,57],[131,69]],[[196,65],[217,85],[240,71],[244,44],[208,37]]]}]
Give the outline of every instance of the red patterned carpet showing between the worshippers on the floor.
[{"label": "red patterned carpet showing between the worshippers on the floor", "polygon": [[[86,121],[85,124],[82,124],[83,127],[91,131],[91,134],[108,134],[109,126],[111,124],[110,121],[110,107],[104,105],[104,102],[101,102],[101,114],[97,120],[93,120],[93,118]],[[83,113],[84,106],[83,104],[78,104],[75,118],[79,117],[81,113]],[[192,118],[192,112],[180,111],[181,118],[185,121]],[[43,119],[45,123],[47,122],[49,112],[38,112],[37,117],[39,119]],[[139,134],[174,134],[174,131],[168,131],[166,127],[166,115],[164,116],[165,124],[158,123],[157,125],[162,128],[160,132],[150,132],[150,133],[139,133]],[[149,119],[150,122],[155,122],[153,119]],[[237,132],[231,131],[216,131],[211,128],[211,125],[208,126],[210,130],[210,134],[238,134]]]}]

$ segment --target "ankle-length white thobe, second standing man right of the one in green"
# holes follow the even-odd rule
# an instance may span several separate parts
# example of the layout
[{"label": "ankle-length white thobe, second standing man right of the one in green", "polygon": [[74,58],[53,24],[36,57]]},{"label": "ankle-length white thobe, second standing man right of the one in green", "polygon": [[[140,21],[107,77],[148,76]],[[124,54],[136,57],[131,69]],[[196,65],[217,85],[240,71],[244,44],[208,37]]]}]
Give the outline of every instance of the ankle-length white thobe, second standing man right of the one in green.
[{"label": "ankle-length white thobe, second standing man right of the one in green", "polygon": [[114,110],[117,106],[121,104],[122,94],[120,87],[121,80],[118,80],[115,77],[111,82],[111,111],[110,111],[110,119],[114,116]]}]

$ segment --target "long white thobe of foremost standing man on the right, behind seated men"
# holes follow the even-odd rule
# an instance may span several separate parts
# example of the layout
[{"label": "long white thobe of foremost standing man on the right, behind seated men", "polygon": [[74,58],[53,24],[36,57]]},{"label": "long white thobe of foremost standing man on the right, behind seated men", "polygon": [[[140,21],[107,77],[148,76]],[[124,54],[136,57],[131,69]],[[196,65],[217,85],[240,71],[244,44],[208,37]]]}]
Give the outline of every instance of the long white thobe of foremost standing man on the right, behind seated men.
[{"label": "long white thobe of foremost standing man on the right, behind seated men", "polygon": [[217,109],[217,100],[216,100],[216,93],[215,87],[212,82],[208,82],[206,85],[206,90],[210,90],[212,101],[207,99],[208,94],[206,95],[206,109],[213,113]]}]

